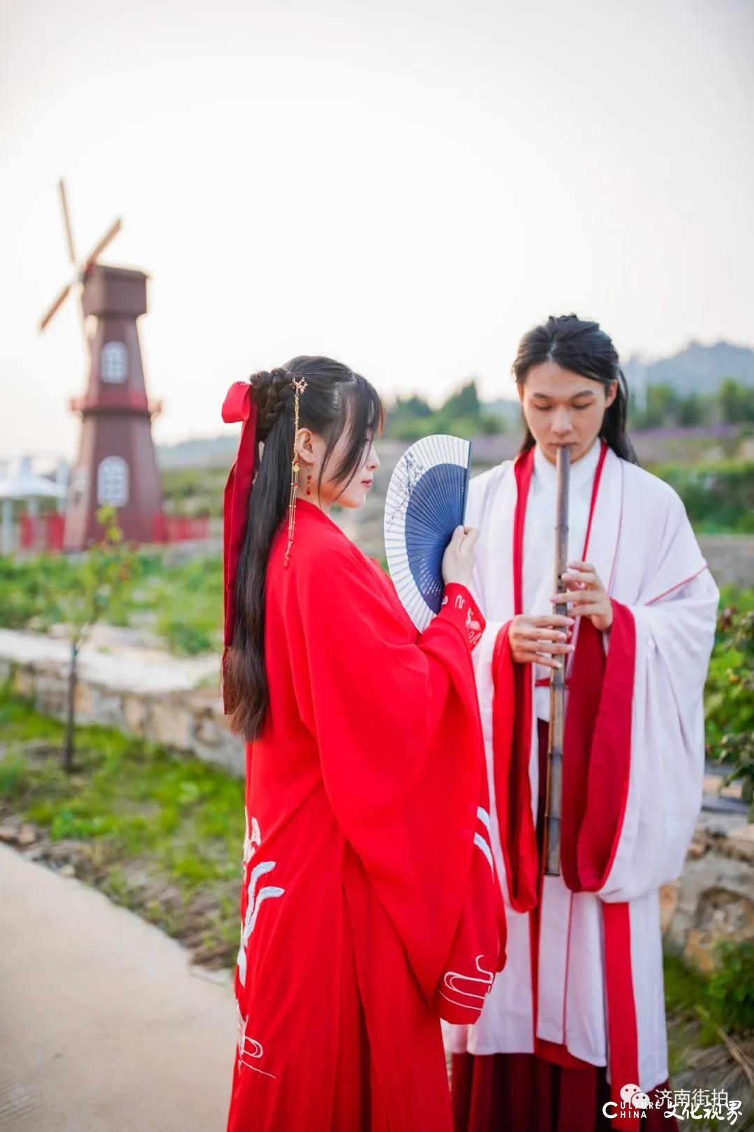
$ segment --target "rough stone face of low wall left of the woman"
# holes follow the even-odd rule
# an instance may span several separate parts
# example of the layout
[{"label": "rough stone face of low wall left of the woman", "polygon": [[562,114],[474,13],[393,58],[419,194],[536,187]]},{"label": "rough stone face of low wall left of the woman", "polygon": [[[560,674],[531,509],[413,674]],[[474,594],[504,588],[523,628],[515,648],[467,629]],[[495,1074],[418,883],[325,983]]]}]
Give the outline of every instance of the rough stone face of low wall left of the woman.
[{"label": "rough stone face of low wall left of the woman", "polygon": [[[66,718],[64,668],[0,658],[0,679],[10,679],[14,691],[43,714]],[[76,689],[76,721],[113,727],[173,751],[190,752],[232,774],[245,773],[243,743],[227,730],[217,695],[205,689],[150,695],[83,680]]]}]

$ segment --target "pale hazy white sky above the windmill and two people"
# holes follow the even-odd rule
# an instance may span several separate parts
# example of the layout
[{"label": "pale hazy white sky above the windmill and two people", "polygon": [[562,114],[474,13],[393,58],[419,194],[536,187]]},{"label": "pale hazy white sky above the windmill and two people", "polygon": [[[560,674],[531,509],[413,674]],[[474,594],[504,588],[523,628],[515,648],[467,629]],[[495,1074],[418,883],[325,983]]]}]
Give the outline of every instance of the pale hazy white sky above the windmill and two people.
[{"label": "pale hazy white sky above the windmill and two people", "polygon": [[145,269],[159,443],[327,353],[388,400],[596,318],[754,345],[751,0],[0,0],[0,460],[75,455],[77,254]]}]

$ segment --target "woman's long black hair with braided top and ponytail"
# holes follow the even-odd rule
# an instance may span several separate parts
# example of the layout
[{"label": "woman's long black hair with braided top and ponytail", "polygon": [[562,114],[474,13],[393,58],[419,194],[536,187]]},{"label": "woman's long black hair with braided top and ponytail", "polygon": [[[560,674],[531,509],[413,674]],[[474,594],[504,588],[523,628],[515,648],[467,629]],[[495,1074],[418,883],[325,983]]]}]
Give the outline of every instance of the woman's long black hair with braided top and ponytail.
[{"label": "woman's long black hair with braided top and ponytail", "polygon": [[294,441],[293,378],[305,378],[298,427],[326,440],[319,483],[338,439],[348,432],[348,446],[331,479],[343,491],[354,478],[365,451],[382,424],[382,404],[370,383],[331,358],[293,358],[279,369],[251,378],[257,403],[257,475],[249,497],[246,530],[235,580],[233,644],[225,663],[229,726],[236,735],[255,739],[265,723],[269,691],[265,666],[265,580],[272,539],[280,526],[291,492]]}]

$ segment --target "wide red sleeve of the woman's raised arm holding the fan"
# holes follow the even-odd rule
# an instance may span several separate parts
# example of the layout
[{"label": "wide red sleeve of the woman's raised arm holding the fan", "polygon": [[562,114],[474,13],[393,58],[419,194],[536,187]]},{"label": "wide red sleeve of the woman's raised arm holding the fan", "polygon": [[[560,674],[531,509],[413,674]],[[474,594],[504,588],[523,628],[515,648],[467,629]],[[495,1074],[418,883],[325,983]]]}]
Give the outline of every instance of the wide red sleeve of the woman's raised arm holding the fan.
[{"label": "wide red sleeve of the woman's raised arm holding the fan", "polygon": [[[348,548],[302,572],[301,678],[335,816],[432,1001],[458,940],[475,854],[496,890],[471,666],[484,619],[470,593],[451,585],[417,637],[390,586]],[[487,938],[497,940],[489,919]]]}]

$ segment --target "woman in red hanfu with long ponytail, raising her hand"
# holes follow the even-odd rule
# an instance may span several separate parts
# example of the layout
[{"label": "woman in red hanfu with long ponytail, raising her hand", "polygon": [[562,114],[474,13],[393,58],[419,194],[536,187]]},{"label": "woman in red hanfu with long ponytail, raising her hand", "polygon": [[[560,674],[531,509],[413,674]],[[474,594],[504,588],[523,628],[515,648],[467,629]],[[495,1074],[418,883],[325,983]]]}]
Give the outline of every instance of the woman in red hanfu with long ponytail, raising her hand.
[{"label": "woman in red hanfu with long ponytail, raising her hand", "polygon": [[[224,693],[249,740],[228,1132],[450,1132],[440,1017],[503,962],[467,583],[421,635],[330,518],[379,466],[374,389],[327,358],[236,383]],[[260,455],[261,441],[261,455]],[[253,490],[252,490],[253,483]]]}]

